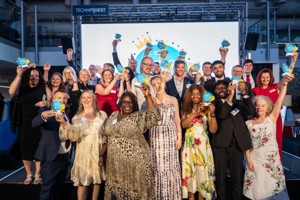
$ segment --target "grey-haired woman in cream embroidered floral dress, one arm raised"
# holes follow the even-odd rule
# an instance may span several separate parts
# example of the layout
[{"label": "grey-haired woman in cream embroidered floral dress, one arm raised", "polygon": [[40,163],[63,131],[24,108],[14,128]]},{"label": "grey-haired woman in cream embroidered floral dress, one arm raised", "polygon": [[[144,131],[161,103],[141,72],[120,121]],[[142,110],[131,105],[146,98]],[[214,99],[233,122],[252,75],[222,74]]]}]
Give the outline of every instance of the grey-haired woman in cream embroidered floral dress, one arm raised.
[{"label": "grey-haired woman in cream embroidered floral dress, one arm raised", "polygon": [[246,121],[252,148],[245,151],[247,166],[243,184],[243,194],[250,199],[289,199],[276,141],[276,120],[291,79],[285,78],[275,105],[267,96],[252,99],[255,117]]}]

